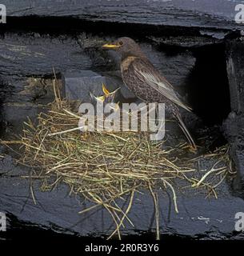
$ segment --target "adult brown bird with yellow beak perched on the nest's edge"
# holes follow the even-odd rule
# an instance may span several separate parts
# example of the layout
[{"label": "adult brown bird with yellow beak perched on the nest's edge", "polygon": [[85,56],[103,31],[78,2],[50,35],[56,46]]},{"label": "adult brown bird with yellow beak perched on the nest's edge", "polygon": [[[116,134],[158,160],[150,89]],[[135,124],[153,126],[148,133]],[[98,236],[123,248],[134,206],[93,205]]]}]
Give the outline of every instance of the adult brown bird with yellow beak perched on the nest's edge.
[{"label": "adult brown bird with yellow beak perched on the nest's edge", "polygon": [[128,89],[144,102],[165,103],[167,113],[177,120],[190,145],[196,149],[194,139],[182,121],[179,111],[179,107],[187,111],[191,110],[190,107],[178,98],[174,87],[146,58],[140,46],[131,38],[118,38],[102,48],[116,50],[121,54],[122,80]]}]

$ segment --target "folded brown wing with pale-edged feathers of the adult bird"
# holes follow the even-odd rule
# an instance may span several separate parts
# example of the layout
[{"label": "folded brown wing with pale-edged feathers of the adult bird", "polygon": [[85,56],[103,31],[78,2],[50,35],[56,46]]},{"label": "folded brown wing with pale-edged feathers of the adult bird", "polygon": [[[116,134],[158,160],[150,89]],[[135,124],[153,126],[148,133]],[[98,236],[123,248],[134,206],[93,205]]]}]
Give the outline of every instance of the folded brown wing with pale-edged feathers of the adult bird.
[{"label": "folded brown wing with pale-edged feathers of the adult bird", "polygon": [[183,109],[191,110],[189,106],[186,106],[186,104],[178,98],[170,82],[167,82],[166,78],[164,78],[150,62],[142,58],[135,58],[130,65],[134,68],[134,74],[142,82],[145,82],[147,85],[154,88],[154,90],[157,90],[158,93],[170,99],[171,102],[174,102],[178,106],[181,106]]}]

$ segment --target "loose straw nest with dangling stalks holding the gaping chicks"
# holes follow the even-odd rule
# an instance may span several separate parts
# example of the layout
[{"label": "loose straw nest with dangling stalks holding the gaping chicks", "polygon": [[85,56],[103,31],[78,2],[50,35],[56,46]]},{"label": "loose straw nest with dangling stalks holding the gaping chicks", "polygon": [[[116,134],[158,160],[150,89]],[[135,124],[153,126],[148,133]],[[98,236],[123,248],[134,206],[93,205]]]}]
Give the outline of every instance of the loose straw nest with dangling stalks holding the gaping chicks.
[{"label": "loose straw nest with dangling stalks holding the gaping chicks", "polygon": [[[217,188],[230,170],[228,148],[184,158],[186,145],[164,149],[164,142],[151,142],[142,132],[81,132],[80,116],[70,102],[56,100],[47,113],[38,115],[38,123],[26,122],[22,136],[24,154],[21,162],[32,166],[32,178],[43,180],[42,189],[52,189],[60,182],[70,186],[70,193],[80,194],[93,203],[80,214],[103,206],[113,218],[118,234],[125,220],[130,222],[130,209],[137,193],[148,190],[155,206],[157,238],[159,238],[158,189],[169,190],[178,212],[178,190],[204,189],[217,198]],[[189,150],[188,150],[189,151]],[[179,158],[179,155],[183,155]],[[201,159],[210,158],[210,169],[201,168]],[[199,163],[200,162],[200,163]],[[181,185],[179,185],[181,184]],[[117,199],[128,198],[126,208]]]}]

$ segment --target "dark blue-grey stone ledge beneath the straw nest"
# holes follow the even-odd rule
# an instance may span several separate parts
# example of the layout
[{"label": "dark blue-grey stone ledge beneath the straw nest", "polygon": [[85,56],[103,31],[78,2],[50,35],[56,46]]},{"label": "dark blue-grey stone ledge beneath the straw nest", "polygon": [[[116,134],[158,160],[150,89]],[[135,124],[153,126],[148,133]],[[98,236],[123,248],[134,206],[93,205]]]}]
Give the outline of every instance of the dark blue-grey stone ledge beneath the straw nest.
[{"label": "dark blue-grey stone ledge beneath the straw nest", "polygon": [[[10,159],[6,159],[6,162],[8,161],[11,172],[0,178],[0,210],[5,212],[7,217],[8,214],[13,215],[37,229],[45,228],[62,234],[98,237],[108,236],[114,230],[110,214],[101,207],[86,214],[78,214],[78,211],[84,210],[90,203],[79,196],[70,196],[69,188],[64,185],[44,192],[40,190],[40,182],[32,179],[34,198],[37,202],[35,205],[30,194],[30,179],[18,177],[19,174],[22,177],[30,174],[30,170],[16,166]],[[208,162],[202,162],[202,165],[210,167]],[[2,168],[9,170],[10,166]],[[243,210],[244,201],[231,196],[226,184],[222,185],[220,191],[218,200],[208,200],[204,193],[199,194],[194,190],[189,190],[189,193],[186,190],[183,194],[178,192],[179,213],[176,214],[169,196],[158,190],[161,233],[201,239],[230,238],[234,234],[234,216]],[[126,223],[126,229],[122,229],[123,235],[155,230],[154,203],[151,195],[145,192],[136,194],[136,198],[129,214],[134,227]],[[11,226],[7,228],[11,229]]]}]

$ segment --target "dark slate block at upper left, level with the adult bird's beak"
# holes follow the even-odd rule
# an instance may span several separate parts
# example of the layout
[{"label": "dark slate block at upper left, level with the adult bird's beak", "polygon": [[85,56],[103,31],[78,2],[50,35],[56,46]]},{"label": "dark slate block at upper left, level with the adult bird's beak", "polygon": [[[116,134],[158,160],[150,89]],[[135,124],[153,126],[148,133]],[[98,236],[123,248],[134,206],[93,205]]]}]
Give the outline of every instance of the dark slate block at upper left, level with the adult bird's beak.
[{"label": "dark slate block at upper left, level with the adult bird's beak", "polygon": [[0,75],[38,76],[53,74],[72,68],[89,69],[90,57],[81,52],[73,38],[33,34],[6,33],[0,40]]}]

